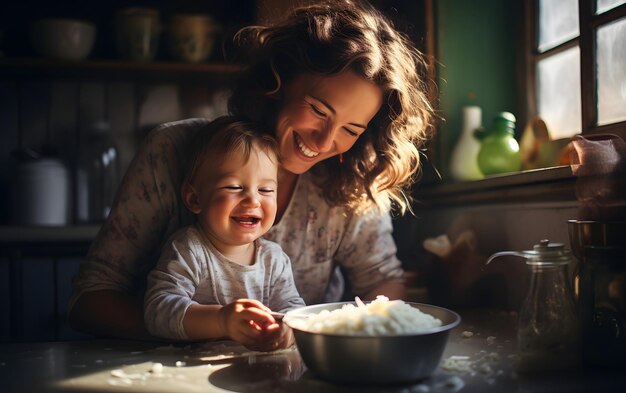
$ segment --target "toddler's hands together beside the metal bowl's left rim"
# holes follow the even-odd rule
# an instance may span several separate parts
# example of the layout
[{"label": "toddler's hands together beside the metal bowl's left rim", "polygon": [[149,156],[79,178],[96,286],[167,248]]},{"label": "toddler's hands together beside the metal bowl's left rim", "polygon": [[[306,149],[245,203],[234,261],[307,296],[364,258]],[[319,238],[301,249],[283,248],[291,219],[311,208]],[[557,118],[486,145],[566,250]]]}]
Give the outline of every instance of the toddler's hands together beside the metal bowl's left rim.
[{"label": "toddler's hands together beside the metal bowl's left rim", "polygon": [[219,323],[226,335],[246,348],[269,352],[293,343],[291,329],[278,323],[270,309],[252,299],[239,299],[219,312]]}]

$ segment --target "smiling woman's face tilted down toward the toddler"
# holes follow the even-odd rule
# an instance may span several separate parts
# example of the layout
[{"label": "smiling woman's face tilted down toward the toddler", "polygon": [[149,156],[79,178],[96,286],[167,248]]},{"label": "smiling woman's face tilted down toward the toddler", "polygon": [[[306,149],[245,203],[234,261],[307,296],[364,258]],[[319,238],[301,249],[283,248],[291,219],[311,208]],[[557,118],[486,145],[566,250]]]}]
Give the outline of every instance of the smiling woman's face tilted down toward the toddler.
[{"label": "smiling woman's face tilted down toward the toddler", "polygon": [[295,174],[348,151],[380,109],[383,92],[353,71],[302,74],[286,86],[276,139],[282,167]]}]

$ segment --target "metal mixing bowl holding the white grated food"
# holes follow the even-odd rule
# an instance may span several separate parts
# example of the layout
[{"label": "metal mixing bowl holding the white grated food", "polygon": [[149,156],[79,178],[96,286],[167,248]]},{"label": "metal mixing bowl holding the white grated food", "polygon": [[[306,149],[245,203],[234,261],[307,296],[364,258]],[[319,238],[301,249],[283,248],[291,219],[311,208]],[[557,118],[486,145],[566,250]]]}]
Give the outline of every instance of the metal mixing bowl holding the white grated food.
[{"label": "metal mixing bowl holding the white grated food", "polygon": [[385,336],[313,333],[293,326],[302,314],[332,311],[349,303],[354,304],[341,302],[306,306],[285,316],[284,321],[293,329],[304,364],[322,379],[350,384],[398,384],[424,379],[439,365],[448,333],[461,321],[454,311],[408,303],[439,318],[442,325],[415,334]]}]

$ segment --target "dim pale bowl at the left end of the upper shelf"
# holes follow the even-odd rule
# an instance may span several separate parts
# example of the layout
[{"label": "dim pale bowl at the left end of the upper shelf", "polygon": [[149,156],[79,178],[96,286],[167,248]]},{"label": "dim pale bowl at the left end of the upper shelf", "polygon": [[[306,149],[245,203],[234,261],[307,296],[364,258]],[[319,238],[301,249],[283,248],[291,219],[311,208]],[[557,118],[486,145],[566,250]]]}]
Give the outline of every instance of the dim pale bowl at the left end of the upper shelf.
[{"label": "dim pale bowl at the left end of the upper shelf", "polygon": [[93,48],[96,26],[77,19],[40,19],[31,25],[30,38],[33,48],[42,56],[83,60]]}]

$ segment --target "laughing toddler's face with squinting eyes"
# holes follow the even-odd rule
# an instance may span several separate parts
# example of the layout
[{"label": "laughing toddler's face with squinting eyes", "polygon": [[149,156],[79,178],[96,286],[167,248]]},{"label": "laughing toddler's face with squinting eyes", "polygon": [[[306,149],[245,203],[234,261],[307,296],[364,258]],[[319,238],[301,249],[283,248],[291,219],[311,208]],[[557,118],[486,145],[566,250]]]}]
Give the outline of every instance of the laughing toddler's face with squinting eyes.
[{"label": "laughing toddler's face with squinting eyes", "polygon": [[192,211],[216,247],[251,243],[272,227],[277,171],[275,157],[258,149],[247,162],[238,153],[204,161],[194,181],[198,205]]}]

